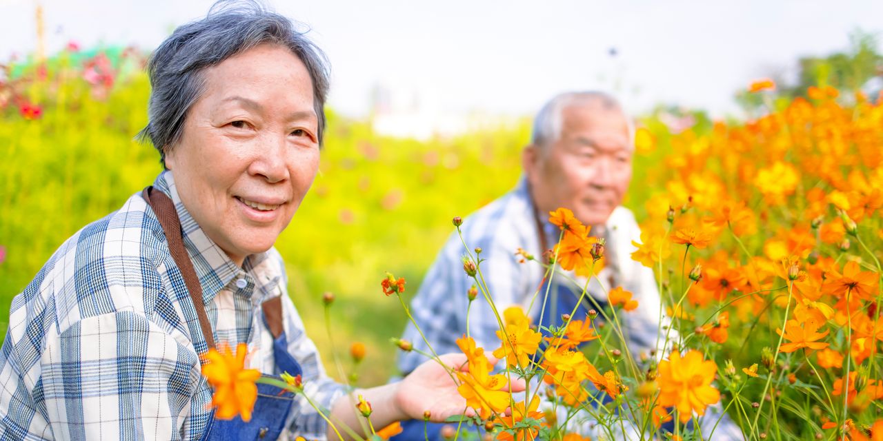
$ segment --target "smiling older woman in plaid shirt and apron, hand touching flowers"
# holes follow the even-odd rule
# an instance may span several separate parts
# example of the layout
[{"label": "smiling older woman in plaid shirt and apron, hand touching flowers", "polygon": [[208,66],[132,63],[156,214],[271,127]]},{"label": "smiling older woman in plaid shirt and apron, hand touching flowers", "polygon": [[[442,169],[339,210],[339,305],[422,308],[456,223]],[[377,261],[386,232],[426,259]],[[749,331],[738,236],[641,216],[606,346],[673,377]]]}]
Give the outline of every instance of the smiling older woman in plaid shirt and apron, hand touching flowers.
[{"label": "smiling older woman in plaid shirt and apron, hand touching flowers", "polygon": [[[62,244],[12,301],[0,438],[334,433],[304,394],[264,385],[250,422],[216,419],[200,355],[240,343],[250,367],[302,374],[306,397],[359,430],[351,399],[306,337],[273,248],[319,167],[328,92],[321,52],[288,19],[246,4],[178,27],[149,73],[143,135],[165,170]],[[441,420],[464,407],[437,364],[357,393],[373,403],[375,427],[426,410]]]}]

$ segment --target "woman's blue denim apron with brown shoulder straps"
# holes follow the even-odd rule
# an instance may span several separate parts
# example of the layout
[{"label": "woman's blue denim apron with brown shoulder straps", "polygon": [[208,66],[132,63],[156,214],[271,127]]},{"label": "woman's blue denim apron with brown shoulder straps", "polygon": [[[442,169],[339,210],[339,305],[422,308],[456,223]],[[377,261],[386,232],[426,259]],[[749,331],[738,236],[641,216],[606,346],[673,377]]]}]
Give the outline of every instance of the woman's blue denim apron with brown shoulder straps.
[{"label": "woman's blue denim apron with brown shoulder straps", "polygon": [[[162,231],[166,235],[166,241],[169,243],[171,257],[175,260],[175,264],[184,278],[187,291],[190,293],[193,308],[196,310],[197,318],[199,318],[203,338],[205,338],[208,348],[215,348],[212,327],[208,322],[205,303],[202,301],[202,287],[200,286],[200,280],[196,275],[196,271],[193,269],[193,263],[184,247],[181,224],[177,217],[175,205],[161,191],[153,191],[153,187],[144,189],[142,197],[147,201],[147,205],[154,210],[156,218],[160,221],[160,225],[162,225]],[[264,373],[262,374],[263,377],[275,377],[281,380],[282,378],[276,377],[276,375],[282,372],[288,372],[292,376],[301,375],[303,372],[300,369],[300,365],[288,352],[288,341],[285,339],[283,330],[282,297],[276,296],[261,303],[260,309],[263,312],[264,325],[268,327],[273,335],[273,357],[276,366],[275,375]],[[232,420],[219,420],[215,418],[215,411],[213,410],[206,431],[201,439],[205,441],[240,441],[272,440],[278,438],[285,429],[285,422],[291,413],[294,394],[274,385],[259,384],[257,386],[258,398],[254,403],[252,419],[249,422],[242,421],[242,418],[238,415]]]}]

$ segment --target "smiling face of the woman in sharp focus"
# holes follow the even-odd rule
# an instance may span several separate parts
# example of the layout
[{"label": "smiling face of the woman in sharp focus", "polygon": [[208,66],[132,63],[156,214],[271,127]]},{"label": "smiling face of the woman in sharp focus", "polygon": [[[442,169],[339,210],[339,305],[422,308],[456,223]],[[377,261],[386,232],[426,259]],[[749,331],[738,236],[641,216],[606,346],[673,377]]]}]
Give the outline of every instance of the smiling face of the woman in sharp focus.
[{"label": "smiling face of the woman in sharp focus", "polygon": [[297,56],[272,44],[231,56],[204,78],[166,166],[193,219],[242,265],[273,246],[316,176],[313,82]]}]

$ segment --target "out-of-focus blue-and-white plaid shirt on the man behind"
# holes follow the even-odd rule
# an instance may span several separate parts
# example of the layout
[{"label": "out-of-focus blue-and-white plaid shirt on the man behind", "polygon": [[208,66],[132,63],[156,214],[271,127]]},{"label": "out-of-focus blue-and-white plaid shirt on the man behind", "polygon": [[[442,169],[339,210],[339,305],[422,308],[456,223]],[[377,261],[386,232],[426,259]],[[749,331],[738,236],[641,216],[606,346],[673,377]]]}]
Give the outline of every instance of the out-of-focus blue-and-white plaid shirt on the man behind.
[{"label": "out-of-focus blue-and-white plaid shirt on the man behind", "polygon": [[[543,233],[547,236],[547,246],[551,248],[558,242],[558,228],[548,222],[548,213],[538,214]],[[522,305],[526,310],[531,306],[534,293],[540,288],[545,269],[535,262],[522,264],[520,257],[515,254],[518,248],[523,248],[540,257],[540,237],[534,218],[538,214],[535,214],[523,177],[513,191],[463,221],[461,229],[465,243],[470,249],[481,247],[481,258],[487,259],[481,264],[482,273],[501,312],[511,305]],[[615,286],[622,286],[634,294],[638,309],[620,314],[619,318],[632,354],[646,353],[657,344],[661,306],[653,270],[631,259],[631,252],[635,250],[631,241],[640,239],[638,224],[632,213],[620,206],[610,215],[604,228],[592,229],[592,235],[603,235],[607,240],[605,258],[608,265],[597,278],[592,278],[589,294],[606,302],[611,280]],[[459,352],[456,340],[466,333],[466,307],[469,302],[466,291],[473,281],[463,271],[462,257],[465,253],[463,242],[455,231],[426,273],[411,302],[411,314],[426,334],[426,340],[439,354]],[[571,283],[561,275],[555,277],[560,283]],[[580,280],[572,273],[570,277]],[[581,280],[585,283],[585,279]],[[581,288],[582,285],[580,292]],[[542,293],[533,303],[532,310],[528,311],[534,323],[540,316],[541,306]],[[470,335],[479,347],[489,353],[500,347],[500,340],[496,336],[498,329],[494,312],[479,295],[472,303],[469,315]],[[405,329],[404,339],[411,340],[414,348],[427,350],[426,343],[411,324]],[[410,372],[423,361],[425,358],[416,352],[403,352],[399,355],[398,365],[402,372]]]}]

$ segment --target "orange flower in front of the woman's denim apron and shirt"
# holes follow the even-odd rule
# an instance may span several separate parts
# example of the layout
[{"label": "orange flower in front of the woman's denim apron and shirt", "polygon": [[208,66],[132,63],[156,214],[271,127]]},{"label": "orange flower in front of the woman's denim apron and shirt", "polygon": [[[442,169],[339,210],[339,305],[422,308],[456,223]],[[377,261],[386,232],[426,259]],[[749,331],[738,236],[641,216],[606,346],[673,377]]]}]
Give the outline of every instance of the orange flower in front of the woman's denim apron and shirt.
[{"label": "orange flower in front of the woman's denim apron and shirt", "polygon": [[211,406],[216,407],[215,416],[222,420],[230,420],[242,415],[247,422],[252,419],[254,401],[258,399],[258,386],[254,382],[260,378],[260,371],[245,369],[245,355],[248,346],[239,343],[236,354],[230,346],[222,344],[220,350],[211,348],[202,355],[207,362],[202,365],[202,376],[215,390]]}]

